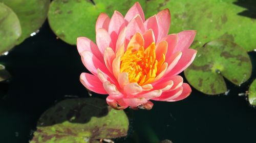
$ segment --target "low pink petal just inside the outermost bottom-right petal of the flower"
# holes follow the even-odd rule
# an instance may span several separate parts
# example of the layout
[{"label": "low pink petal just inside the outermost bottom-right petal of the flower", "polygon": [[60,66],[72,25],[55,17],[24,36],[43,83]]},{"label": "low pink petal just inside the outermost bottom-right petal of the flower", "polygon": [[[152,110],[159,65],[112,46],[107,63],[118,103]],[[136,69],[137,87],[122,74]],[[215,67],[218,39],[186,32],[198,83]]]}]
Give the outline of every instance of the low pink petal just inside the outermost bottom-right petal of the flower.
[{"label": "low pink petal just inside the outermost bottom-right petal of the flower", "polygon": [[170,91],[165,91],[161,94],[160,97],[152,99],[152,100],[156,100],[156,101],[168,101],[168,100],[172,100],[177,98],[178,96],[180,96],[180,94],[182,93],[182,86],[176,90],[170,90]]}]

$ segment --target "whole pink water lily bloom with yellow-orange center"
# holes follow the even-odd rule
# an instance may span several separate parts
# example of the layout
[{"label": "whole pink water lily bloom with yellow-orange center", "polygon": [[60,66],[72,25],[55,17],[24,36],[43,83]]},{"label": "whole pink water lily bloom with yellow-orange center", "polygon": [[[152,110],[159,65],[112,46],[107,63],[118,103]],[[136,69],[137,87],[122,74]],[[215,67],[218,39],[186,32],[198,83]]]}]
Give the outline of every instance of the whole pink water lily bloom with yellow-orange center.
[{"label": "whole pink water lily bloom with yellow-orange center", "polygon": [[115,109],[151,109],[155,101],[179,101],[191,88],[179,76],[194,60],[189,49],[196,31],[168,35],[168,9],[145,20],[139,3],[123,17],[115,11],[109,18],[101,13],[96,22],[96,43],[77,38],[84,66],[81,83],[99,94],[109,94],[106,102]]}]

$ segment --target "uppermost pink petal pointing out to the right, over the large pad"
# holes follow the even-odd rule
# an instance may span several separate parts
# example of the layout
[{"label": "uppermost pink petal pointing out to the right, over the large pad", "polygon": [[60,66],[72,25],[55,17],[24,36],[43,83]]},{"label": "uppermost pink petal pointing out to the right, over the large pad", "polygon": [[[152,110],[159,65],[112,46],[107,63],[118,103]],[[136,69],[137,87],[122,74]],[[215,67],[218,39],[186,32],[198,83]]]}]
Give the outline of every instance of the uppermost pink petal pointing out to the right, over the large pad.
[{"label": "uppermost pink petal pointing out to the right, over the large pad", "polygon": [[189,48],[189,46],[193,43],[194,38],[196,36],[195,30],[182,31],[178,33],[178,42],[173,51],[173,53],[178,51],[184,51]]}]

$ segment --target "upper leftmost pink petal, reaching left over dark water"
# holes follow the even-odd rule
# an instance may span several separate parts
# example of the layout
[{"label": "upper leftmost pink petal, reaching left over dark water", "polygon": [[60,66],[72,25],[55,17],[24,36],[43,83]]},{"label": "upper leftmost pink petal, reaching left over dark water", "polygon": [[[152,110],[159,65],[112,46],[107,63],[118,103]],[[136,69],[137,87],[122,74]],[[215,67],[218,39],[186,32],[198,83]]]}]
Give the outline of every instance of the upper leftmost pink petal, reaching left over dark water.
[{"label": "upper leftmost pink petal, reaching left over dark water", "polygon": [[91,41],[90,39],[88,39],[86,37],[78,37],[77,38],[77,50],[80,55],[83,51],[90,51],[100,61],[103,62],[103,57],[98,49],[98,46],[93,41]]}]

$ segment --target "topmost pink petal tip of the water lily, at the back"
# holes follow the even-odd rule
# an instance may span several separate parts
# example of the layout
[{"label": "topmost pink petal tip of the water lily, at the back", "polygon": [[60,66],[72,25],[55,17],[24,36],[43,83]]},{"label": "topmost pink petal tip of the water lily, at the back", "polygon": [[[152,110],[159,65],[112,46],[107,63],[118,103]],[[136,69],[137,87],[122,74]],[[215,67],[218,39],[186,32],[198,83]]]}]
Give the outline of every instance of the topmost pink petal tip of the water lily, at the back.
[{"label": "topmost pink petal tip of the water lily, at the back", "polygon": [[130,22],[133,17],[135,17],[137,14],[140,15],[142,21],[144,22],[145,21],[145,16],[144,16],[144,13],[143,13],[143,10],[139,4],[139,2],[136,2],[130,9],[129,11],[126,13],[126,15],[124,16],[124,19],[127,21],[127,22]]}]

